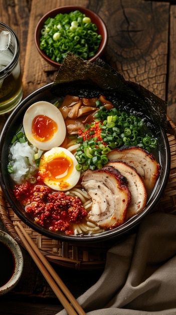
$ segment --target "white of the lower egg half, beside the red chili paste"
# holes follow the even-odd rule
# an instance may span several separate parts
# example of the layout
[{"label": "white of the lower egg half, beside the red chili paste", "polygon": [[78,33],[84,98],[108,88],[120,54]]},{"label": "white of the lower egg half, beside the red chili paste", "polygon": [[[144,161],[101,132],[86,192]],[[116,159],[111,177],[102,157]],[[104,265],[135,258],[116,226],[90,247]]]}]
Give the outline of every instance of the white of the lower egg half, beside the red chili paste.
[{"label": "white of the lower egg half, beside the red chili paste", "polygon": [[[51,173],[46,172],[47,163],[58,158],[72,161],[73,169],[69,176],[63,174],[63,177],[53,177]],[[77,164],[75,156],[69,150],[63,147],[54,147],[42,155],[39,165],[39,176],[41,176],[48,187],[58,191],[66,191],[73,188],[79,181],[80,172],[76,170]]]}]

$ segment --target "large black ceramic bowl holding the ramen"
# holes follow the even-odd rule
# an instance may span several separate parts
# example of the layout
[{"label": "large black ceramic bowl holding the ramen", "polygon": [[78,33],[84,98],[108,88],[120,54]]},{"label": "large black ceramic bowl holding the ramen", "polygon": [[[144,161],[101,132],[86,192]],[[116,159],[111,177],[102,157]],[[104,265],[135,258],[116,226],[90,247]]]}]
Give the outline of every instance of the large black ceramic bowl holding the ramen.
[{"label": "large black ceramic bowl holding the ramen", "polygon": [[151,210],[157,205],[159,199],[164,191],[164,188],[168,181],[169,170],[170,170],[170,149],[169,143],[166,136],[166,133],[162,128],[158,127],[160,130],[160,135],[158,139],[159,145],[159,163],[161,165],[160,176],[156,182],[154,190],[147,202],[146,207],[138,215],[132,217],[123,225],[114,228],[109,231],[101,232],[99,234],[93,235],[65,235],[61,232],[52,232],[42,226],[36,224],[34,220],[27,215],[27,213],[22,209],[19,201],[16,199],[11,178],[8,174],[8,155],[9,155],[9,146],[12,140],[13,135],[16,133],[18,127],[22,124],[23,116],[33,103],[37,101],[48,101],[55,103],[57,97],[51,93],[52,84],[46,85],[31,95],[24,99],[18,107],[13,111],[9,117],[0,139],[0,152],[1,152],[1,170],[0,170],[0,184],[2,190],[6,196],[7,201],[9,202],[12,209],[18,215],[18,217],[25,222],[28,226],[36,230],[37,232],[46,235],[52,239],[58,239],[68,242],[76,243],[93,243],[93,242],[102,242],[102,241],[111,241],[117,238],[120,238],[122,235],[131,231]]}]

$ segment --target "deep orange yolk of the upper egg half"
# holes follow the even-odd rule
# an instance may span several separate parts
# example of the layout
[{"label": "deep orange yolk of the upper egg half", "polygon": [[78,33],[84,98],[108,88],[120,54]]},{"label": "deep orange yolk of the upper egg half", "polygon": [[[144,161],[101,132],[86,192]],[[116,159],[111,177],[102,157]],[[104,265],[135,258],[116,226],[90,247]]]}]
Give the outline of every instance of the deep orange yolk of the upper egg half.
[{"label": "deep orange yolk of the upper egg half", "polygon": [[50,140],[57,131],[57,123],[45,115],[38,115],[32,122],[33,136],[39,141]]}]

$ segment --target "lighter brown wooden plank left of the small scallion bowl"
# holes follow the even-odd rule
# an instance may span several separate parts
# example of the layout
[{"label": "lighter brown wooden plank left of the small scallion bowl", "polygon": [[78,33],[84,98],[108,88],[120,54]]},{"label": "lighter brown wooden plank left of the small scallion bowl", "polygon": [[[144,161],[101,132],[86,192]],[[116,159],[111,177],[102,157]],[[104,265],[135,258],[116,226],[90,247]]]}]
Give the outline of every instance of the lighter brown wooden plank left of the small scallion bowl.
[{"label": "lighter brown wooden plank left of the small scallion bowl", "polygon": [[[86,0],[75,0],[74,5],[79,5],[86,7],[88,1]],[[37,90],[44,85],[53,82],[57,69],[49,65],[44,59],[39,55],[35,40],[34,32],[37,26],[37,21],[47,13],[48,11],[66,5],[73,5],[72,0],[43,0],[42,6],[41,2],[37,0],[32,1],[31,15],[29,22],[29,32],[28,32],[28,42],[26,49],[26,62],[23,74],[24,82],[24,96],[29,95],[33,91]],[[42,69],[42,70],[41,70]]]}]

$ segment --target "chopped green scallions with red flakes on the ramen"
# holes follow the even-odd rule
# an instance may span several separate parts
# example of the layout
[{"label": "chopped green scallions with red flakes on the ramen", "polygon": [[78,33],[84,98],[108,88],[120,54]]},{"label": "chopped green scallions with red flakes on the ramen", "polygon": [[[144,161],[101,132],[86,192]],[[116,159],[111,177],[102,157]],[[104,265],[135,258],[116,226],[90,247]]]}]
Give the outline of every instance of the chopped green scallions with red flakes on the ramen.
[{"label": "chopped green scallions with red flakes on the ramen", "polygon": [[86,124],[77,139],[80,146],[75,157],[83,171],[101,169],[108,162],[107,153],[123,145],[138,145],[148,151],[156,148],[157,139],[140,117],[115,107],[108,110],[99,102],[96,105],[99,110],[94,115],[95,122]]}]

